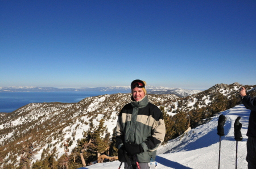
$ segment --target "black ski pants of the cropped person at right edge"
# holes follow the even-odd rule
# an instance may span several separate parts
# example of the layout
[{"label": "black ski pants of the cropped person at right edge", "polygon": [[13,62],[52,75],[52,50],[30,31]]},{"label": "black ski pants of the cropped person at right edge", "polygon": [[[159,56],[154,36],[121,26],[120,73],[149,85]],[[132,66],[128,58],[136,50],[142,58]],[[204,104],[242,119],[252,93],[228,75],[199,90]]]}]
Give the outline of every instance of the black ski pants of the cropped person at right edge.
[{"label": "black ski pants of the cropped person at right edge", "polygon": [[256,168],[256,138],[248,137],[246,145],[247,145],[246,161],[248,162],[248,169],[255,169]]}]

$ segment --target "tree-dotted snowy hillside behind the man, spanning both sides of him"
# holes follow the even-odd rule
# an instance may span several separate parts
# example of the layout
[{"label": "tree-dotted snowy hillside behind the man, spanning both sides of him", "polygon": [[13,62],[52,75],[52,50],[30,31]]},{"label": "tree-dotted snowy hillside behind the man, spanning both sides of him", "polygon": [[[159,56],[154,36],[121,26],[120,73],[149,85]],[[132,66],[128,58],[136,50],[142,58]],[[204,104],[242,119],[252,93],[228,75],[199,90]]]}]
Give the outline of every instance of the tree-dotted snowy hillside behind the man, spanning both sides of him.
[{"label": "tree-dotted snowy hillside behind the man, spanning both sides of him", "polygon": [[[165,113],[168,128],[165,141],[180,136],[188,126],[195,128],[202,124],[202,119],[239,104],[237,89],[240,86],[238,83],[216,84],[184,98],[149,94],[150,102],[161,106]],[[246,86],[249,94],[255,95],[254,87]],[[0,113],[0,167],[13,168],[47,157],[52,164],[68,161],[73,167],[81,167],[81,145],[92,137],[96,140],[96,133],[100,140],[94,145],[101,142],[109,149],[100,150],[100,145],[91,147],[83,154],[86,163],[97,159],[97,153],[93,153],[96,151],[114,155],[112,133],[116,117],[129,102],[130,94],[119,93],[85,98],[78,103],[31,103],[12,113]]]}]

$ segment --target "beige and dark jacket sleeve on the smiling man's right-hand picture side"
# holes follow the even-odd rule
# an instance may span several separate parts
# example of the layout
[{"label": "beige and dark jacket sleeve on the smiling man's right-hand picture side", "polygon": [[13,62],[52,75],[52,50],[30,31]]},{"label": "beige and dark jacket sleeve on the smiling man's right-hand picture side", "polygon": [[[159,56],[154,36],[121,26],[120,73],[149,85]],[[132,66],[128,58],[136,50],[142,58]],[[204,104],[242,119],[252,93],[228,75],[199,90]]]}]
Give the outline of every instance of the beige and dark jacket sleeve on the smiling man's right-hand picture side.
[{"label": "beige and dark jacket sleeve on the smiling man's right-hand picture side", "polygon": [[164,141],[165,135],[166,126],[164,125],[163,114],[160,111],[159,119],[155,120],[152,126],[151,136],[147,137],[147,139],[144,142],[142,142],[142,147],[144,151],[155,151],[156,149],[158,149],[160,144]]}]

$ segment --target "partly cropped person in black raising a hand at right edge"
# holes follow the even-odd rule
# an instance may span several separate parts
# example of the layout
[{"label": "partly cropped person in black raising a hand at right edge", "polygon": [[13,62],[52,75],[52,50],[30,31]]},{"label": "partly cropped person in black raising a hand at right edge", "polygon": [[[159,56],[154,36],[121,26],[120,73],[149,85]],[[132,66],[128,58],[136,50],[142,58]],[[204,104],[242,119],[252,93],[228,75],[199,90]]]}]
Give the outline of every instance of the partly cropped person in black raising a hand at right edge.
[{"label": "partly cropped person in black raising a hand at right edge", "polygon": [[256,98],[246,95],[245,87],[240,88],[239,94],[242,96],[242,103],[247,109],[251,110],[249,117],[249,125],[246,136],[247,140],[247,156],[248,168],[256,168]]}]

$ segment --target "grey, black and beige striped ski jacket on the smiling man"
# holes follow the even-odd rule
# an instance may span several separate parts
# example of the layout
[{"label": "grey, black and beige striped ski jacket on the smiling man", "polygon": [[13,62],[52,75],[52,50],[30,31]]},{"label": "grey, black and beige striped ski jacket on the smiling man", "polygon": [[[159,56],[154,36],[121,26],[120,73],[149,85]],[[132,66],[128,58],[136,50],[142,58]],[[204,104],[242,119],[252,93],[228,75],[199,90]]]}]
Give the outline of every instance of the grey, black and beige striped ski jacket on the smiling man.
[{"label": "grey, black and beige striped ski jacket on the smiling man", "polygon": [[147,95],[139,102],[126,104],[118,115],[115,130],[117,148],[123,143],[141,144],[144,152],[137,154],[139,163],[155,160],[156,149],[163,142],[166,134],[163,113],[148,102]]}]

